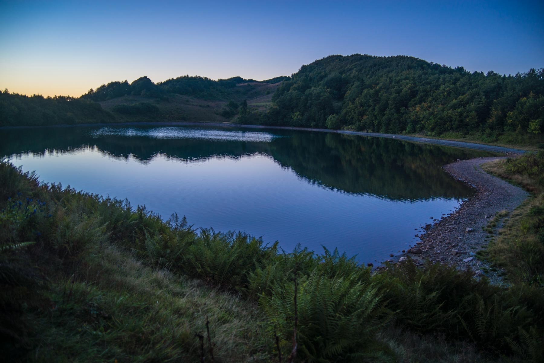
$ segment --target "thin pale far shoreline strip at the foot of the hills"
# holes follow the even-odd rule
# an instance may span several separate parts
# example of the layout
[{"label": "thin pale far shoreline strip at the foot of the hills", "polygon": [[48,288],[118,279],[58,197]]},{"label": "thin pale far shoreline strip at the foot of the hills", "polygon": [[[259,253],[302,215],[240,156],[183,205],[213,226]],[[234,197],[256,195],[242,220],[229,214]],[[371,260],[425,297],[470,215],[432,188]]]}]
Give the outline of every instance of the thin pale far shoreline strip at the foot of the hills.
[{"label": "thin pale far shoreline strip at the foot of the hills", "polygon": [[444,139],[429,139],[428,137],[395,135],[395,134],[381,134],[381,133],[366,133],[361,131],[345,131],[345,130],[329,130],[329,129],[317,129],[317,128],[304,128],[304,127],[290,127],[290,126],[263,126],[263,125],[239,125],[233,123],[218,123],[218,122],[120,122],[120,123],[80,123],[80,124],[58,124],[47,126],[3,126],[3,129],[27,129],[27,128],[45,128],[45,127],[89,127],[89,126],[139,126],[139,125],[158,125],[158,126],[219,126],[219,127],[236,127],[236,128],[254,128],[254,129],[277,129],[277,130],[300,130],[300,131],[314,131],[314,132],[326,132],[337,133],[347,135],[360,135],[370,137],[384,137],[386,139],[397,139],[412,142],[429,143],[433,145],[452,146],[459,148],[475,149],[481,151],[489,151],[495,153],[514,153],[523,154],[526,151],[522,149],[515,149],[503,146],[487,145],[485,143],[465,142],[465,141],[453,141]]}]

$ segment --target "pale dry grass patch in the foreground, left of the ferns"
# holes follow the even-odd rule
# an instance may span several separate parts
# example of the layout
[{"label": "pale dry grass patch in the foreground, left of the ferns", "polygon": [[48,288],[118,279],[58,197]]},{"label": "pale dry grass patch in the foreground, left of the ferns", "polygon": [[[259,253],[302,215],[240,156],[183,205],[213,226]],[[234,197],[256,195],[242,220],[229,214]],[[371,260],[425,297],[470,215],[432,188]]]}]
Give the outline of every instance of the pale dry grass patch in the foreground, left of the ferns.
[{"label": "pale dry grass patch in the foreground, left of the ferns", "polygon": [[153,270],[114,246],[86,262],[73,285],[71,277],[53,284],[53,309],[34,316],[36,361],[197,361],[195,334],[206,336],[206,318],[216,359],[268,360],[259,352],[268,336],[254,304]]}]

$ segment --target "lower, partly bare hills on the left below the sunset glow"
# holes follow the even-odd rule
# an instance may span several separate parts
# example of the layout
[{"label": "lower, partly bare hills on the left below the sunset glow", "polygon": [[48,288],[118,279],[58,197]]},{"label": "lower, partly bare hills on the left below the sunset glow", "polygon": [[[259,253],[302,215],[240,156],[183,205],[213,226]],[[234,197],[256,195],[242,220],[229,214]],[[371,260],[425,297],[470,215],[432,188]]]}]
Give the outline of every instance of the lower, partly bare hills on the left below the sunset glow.
[{"label": "lower, partly bare hills on the left below the sunset glow", "polygon": [[[248,101],[271,101],[282,80],[233,77],[213,80],[182,76],[153,83],[140,77],[114,81],[79,98],[18,95],[0,91],[1,126],[46,126],[98,122],[228,122],[246,110]],[[245,106],[244,106],[245,105]],[[245,113],[245,112],[244,112]]]}]

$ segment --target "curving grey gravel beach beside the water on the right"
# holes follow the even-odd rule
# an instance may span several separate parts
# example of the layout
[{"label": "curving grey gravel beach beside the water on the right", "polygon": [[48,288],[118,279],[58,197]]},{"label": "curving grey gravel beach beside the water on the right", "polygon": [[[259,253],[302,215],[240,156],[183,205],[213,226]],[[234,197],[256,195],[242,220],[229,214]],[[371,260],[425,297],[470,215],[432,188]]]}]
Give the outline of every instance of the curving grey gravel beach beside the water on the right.
[{"label": "curving grey gravel beach beside the water on the right", "polygon": [[[482,227],[487,227],[490,218],[498,212],[514,210],[529,196],[520,187],[482,170],[482,164],[497,159],[505,158],[478,158],[444,166],[454,178],[475,187],[477,193],[452,214],[437,217],[440,221],[428,226],[428,231],[421,236],[421,242],[407,251],[416,253],[408,255],[416,260],[441,261],[462,270],[468,267],[474,271],[489,268],[487,262],[478,260],[475,255],[490,239],[490,234]],[[499,223],[493,232],[496,233],[500,227]],[[496,273],[490,271],[486,275],[493,283],[500,283]]]}]

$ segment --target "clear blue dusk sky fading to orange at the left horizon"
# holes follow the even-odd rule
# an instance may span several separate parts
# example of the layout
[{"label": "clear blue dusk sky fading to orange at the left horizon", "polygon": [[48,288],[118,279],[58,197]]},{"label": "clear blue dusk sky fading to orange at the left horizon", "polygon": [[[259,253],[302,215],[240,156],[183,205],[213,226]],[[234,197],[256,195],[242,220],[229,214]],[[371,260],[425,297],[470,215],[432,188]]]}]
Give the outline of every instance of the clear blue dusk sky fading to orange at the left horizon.
[{"label": "clear blue dusk sky fading to orange at the left horizon", "polygon": [[263,80],[355,53],[527,72],[544,67],[544,2],[0,0],[0,88],[27,95],[142,76]]}]

